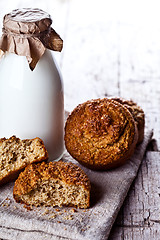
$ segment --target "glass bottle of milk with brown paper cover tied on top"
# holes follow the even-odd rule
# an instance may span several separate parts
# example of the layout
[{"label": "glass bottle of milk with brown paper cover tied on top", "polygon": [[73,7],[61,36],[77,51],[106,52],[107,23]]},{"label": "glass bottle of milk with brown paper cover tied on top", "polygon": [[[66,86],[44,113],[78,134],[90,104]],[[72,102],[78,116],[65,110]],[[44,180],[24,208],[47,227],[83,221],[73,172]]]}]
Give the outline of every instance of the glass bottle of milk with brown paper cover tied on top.
[{"label": "glass bottle of milk with brown paper cover tied on top", "polygon": [[40,9],[4,16],[0,40],[0,138],[40,137],[51,160],[63,153],[63,84],[50,50],[63,41]]}]

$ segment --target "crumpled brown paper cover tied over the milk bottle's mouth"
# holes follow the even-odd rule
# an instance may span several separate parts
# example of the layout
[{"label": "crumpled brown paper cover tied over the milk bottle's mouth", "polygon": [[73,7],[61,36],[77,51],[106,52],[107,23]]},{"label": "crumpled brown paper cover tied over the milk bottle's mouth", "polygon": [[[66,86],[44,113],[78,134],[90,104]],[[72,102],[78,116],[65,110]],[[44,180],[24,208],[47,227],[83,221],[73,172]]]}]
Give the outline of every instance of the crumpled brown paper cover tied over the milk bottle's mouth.
[{"label": "crumpled brown paper cover tied over the milk bottle's mouth", "polygon": [[15,9],[4,16],[0,49],[26,56],[33,70],[46,48],[62,50],[63,40],[51,24],[51,16],[41,9]]}]

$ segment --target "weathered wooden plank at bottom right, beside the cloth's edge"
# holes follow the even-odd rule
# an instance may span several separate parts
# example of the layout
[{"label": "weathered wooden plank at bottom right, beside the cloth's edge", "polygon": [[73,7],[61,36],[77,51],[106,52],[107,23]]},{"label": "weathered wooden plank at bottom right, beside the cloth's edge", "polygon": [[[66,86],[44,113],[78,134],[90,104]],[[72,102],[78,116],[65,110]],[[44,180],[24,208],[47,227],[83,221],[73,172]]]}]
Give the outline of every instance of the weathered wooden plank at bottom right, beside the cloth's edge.
[{"label": "weathered wooden plank at bottom right, beside the cloth's edge", "polygon": [[160,152],[148,152],[109,240],[157,240],[160,236]]}]

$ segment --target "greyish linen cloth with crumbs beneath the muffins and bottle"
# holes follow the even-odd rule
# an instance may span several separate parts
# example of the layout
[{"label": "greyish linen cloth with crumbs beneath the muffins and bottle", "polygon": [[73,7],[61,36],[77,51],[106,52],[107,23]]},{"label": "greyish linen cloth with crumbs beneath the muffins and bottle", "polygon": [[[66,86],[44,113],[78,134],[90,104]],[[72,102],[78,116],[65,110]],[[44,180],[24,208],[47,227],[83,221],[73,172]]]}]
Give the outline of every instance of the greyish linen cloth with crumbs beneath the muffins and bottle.
[{"label": "greyish linen cloth with crumbs beneath the muffins and bottle", "polygon": [[[129,187],[137,175],[151,137],[152,131],[148,131],[133,157],[122,167],[105,172],[82,167],[92,186],[91,207],[88,210],[67,207],[28,210],[15,203],[12,197],[14,183],[1,187],[0,238],[106,240]],[[76,162],[67,153],[63,158]]]}]

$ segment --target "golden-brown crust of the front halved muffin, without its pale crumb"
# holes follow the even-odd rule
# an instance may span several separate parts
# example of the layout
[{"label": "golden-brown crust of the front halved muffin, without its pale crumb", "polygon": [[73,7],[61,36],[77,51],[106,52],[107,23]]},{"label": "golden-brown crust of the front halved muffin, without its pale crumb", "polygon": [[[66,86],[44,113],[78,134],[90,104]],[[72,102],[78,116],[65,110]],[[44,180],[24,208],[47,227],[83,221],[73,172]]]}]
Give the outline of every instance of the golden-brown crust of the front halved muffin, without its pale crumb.
[{"label": "golden-brown crust of the front halved muffin, without its pale crumb", "polygon": [[13,188],[13,197],[16,202],[25,203],[21,199],[24,194],[29,194],[36,189],[38,185],[46,180],[59,179],[68,185],[83,186],[88,191],[87,207],[90,204],[90,180],[84,171],[71,162],[42,162],[38,164],[28,165],[23,172],[20,173],[15,181]]}]

